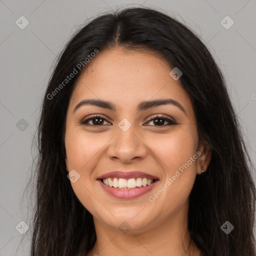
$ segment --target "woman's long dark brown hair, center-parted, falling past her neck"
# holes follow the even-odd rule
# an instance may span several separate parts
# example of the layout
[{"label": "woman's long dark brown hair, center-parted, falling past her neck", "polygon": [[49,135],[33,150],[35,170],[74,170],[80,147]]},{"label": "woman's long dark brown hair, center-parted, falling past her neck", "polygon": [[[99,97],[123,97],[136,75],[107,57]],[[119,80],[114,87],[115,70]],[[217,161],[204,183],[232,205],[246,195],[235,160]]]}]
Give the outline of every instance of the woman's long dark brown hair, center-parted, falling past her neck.
[{"label": "woman's long dark brown hair, center-parted, falling past her neck", "polygon": [[[95,243],[92,215],[66,176],[65,118],[74,85],[87,66],[78,70],[77,64],[95,49],[115,46],[150,50],[182,70],[179,79],[193,99],[198,137],[212,150],[207,171],[196,176],[189,196],[188,230],[194,243],[203,255],[256,256],[253,166],[224,77],[191,29],[146,7],[96,17],[77,30],[56,61],[42,102],[39,153],[30,181],[36,183],[30,255],[84,256]],[[74,68],[78,73],[56,90]],[[225,221],[234,226],[229,234],[221,230]]]}]

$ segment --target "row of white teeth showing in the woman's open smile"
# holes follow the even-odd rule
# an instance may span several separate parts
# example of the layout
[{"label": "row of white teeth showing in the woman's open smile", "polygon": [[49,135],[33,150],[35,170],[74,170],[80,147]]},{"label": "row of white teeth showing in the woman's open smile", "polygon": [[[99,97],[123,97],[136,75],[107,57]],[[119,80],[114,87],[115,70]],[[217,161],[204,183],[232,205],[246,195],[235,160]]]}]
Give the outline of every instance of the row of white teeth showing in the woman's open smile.
[{"label": "row of white teeth showing in the woman's open smile", "polygon": [[149,178],[103,178],[103,183],[107,186],[113,186],[119,189],[132,189],[135,187],[146,186],[153,183],[153,179]]}]

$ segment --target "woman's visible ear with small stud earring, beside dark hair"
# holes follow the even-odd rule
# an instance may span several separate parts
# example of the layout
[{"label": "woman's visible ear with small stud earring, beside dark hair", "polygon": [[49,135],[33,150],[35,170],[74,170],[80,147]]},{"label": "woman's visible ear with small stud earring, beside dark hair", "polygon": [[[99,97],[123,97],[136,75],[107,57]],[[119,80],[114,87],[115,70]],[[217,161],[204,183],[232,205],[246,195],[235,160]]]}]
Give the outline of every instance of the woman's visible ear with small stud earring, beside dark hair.
[{"label": "woman's visible ear with small stud earring, beside dark hair", "polygon": [[200,141],[199,145],[198,145],[198,151],[200,152],[200,154],[198,154],[198,162],[197,162],[196,173],[201,174],[202,173],[202,171],[201,171],[202,168],[204,169],[204,171],[206,171],[206,169],[207,169],[207,167],[210,163],[211,148],[205,142]]}]

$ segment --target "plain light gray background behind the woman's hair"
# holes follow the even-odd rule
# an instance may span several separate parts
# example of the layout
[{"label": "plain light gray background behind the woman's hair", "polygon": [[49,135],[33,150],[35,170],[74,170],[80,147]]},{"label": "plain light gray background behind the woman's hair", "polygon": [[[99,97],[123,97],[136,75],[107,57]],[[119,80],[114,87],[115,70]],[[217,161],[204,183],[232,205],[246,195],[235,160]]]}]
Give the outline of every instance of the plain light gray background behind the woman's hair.
[{"label": "plain light gray background behind the woman's hair", "polygon": [[[24,235],[15,227],[21,230],[22,220],[29,226],[26,200],[31,199],[28,194],[21,201],[21,195],[36,155],[35,148],[31,149],[32,137],[53,60],[78,25],[117,5],[140,4],[166,10],[207,44],[224,73],[256,164],[255,0],[0,0],[0,255],[28,255],[29,237],[25,235],[21,242]],[[24,25],[21,15],[29,21],[24,29],[15,23],[18,20]],[[220,23],[226,15],[234,21],[229,29]],[[256,180],[255,170],[253,176]]]}]

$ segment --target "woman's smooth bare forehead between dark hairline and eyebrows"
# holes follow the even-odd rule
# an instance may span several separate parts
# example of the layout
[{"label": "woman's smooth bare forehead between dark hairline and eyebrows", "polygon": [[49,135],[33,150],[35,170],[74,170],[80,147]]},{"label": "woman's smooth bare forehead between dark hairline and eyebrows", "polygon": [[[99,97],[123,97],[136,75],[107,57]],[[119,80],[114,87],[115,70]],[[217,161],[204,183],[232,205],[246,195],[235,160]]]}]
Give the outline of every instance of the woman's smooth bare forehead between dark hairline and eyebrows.
[{"label": "woman's smooth bare forehead between dark hairline and eyebrows", "polygon": [[[87,98],[113,102],[118,108],[156,98],[172,98],[189,110],[191,100],[164,59],[149,51],[113,48],[99,52],[80,75],[70,104]],[[191,111],[191,109],[190,109]]]}]

